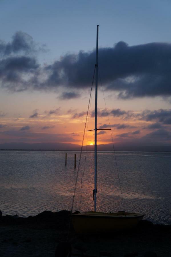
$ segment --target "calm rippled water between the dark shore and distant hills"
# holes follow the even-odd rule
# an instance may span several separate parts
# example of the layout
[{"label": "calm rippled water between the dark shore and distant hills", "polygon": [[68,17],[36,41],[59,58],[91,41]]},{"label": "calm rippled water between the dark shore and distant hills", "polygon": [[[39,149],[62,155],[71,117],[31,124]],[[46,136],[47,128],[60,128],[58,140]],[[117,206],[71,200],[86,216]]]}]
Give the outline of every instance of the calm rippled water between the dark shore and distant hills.
[{"label": "calm rippled water between the dark shore and distant hills", "polygon": [[[0,151],[0,210],[29,216],[44,210],[71,210],[77,169],[74,154],[62,151]],[[126,211],[142,212],[155,223],[171,224],[171,153],[116,152]],[[74,210],[93,210],[94,154],[85,152]],[[85,166],[85,173],[83,170]],[[82,200],[81,178],[83,178]],[[98,211],[123,210],[112,152],[98,153]]]}]

